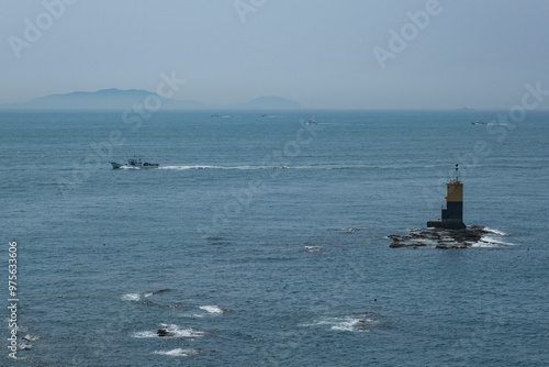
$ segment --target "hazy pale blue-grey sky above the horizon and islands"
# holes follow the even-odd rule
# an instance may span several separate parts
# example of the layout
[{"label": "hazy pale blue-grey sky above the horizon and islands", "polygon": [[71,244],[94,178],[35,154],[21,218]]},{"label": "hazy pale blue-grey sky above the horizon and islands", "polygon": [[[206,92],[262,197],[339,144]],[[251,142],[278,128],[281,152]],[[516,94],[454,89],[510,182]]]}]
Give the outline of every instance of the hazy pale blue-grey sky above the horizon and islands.
[{"label": "hazy pale blue-grey sky above the horizon and islands", "polygon": [[549,90],[545,0],[0,0],[0,103],[172,71],[176,99],[210,103],[508,109]]}]

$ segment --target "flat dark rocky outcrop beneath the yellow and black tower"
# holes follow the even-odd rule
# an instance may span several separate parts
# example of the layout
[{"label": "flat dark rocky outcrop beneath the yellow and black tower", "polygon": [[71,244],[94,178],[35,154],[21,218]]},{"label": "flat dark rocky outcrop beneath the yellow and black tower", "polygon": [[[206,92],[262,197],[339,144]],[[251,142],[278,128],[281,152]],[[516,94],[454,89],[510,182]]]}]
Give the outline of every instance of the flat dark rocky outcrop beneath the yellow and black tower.
[{"label": "flat dark rocky outcrop beneath the yellow and black tower", "polygon": [[468,248],[480,242],[482,236],[492,233],[484,226],[471,225],[463,230],[449,229],[414,229],[410,235],[392,234],[388,236],[393,242],[389,247],[436,247],[436,248]]}]

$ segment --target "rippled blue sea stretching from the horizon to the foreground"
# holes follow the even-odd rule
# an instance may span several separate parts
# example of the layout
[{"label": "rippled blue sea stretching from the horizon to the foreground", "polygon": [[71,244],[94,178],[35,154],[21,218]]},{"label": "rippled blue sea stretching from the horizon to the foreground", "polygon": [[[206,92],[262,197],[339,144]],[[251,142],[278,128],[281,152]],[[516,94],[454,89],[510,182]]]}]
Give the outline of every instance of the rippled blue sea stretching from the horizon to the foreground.
[{"label": "rippled blue sea stretching from the horizon to the foreground", "polygon": [[[2,365],[547,365],[549,113],[261,113],[2,112]],[[390,248],[456,163],[494,234]]]}]

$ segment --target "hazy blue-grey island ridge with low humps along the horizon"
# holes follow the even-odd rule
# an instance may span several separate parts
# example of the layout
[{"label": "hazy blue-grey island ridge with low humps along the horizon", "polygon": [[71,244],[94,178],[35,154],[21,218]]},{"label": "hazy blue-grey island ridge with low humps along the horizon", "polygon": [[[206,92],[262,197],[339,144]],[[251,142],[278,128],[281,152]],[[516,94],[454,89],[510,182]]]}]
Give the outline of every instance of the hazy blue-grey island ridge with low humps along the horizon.
[{"label": "hazy blue-grey island ridge with low humps along the horizon", "polygon": [[214,105],[198,101],[180,101],[161,98],[147,90],[102,89],[93,92],[75,91],[66,94],[51,94],[33,99],[24,103],[2,104],[3,109],[36,109],[36,110],[125,110],[134,104],[147,101],[161,101],[161,109],[249,109],[249,110],[291,110],[301,108],[300,103],[281,97],[259,97],[246,103]]}]

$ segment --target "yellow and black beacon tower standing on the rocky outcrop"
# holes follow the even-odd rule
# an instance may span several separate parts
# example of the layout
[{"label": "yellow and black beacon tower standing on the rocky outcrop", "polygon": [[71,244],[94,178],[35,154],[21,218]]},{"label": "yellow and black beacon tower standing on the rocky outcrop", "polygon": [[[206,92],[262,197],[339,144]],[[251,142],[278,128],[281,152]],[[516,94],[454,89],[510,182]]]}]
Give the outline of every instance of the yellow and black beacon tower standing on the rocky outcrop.
[{"label": "yellow and black beacon tower standing on the rocky outcrop", "polygon": [[459,180],[458,165],[456,179],[446,184],[446,209],[442,208],[442,219],[428,221],[428,227],[462,230],[463,223],[463,184]]}]

